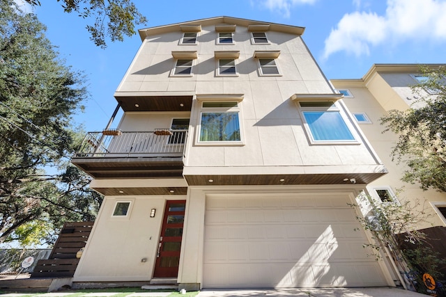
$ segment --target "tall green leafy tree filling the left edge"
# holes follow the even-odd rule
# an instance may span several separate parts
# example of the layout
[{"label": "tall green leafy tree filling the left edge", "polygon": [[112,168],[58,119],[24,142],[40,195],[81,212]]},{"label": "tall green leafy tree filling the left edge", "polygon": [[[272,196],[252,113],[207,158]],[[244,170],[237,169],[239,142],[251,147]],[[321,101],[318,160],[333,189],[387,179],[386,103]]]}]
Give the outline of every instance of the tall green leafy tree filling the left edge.
[{"label": "tall green leafy tree filling the left edge", "polygon": [[[102,198],[88,176],[67,167],[80,142],[72,114],[88,95],[84,76],[57,58],[35,15],[0,2],[1,243],[33,221],[59,228],[63,220],[91,220]],[[63,171],[47,175],[45,166]]]}]

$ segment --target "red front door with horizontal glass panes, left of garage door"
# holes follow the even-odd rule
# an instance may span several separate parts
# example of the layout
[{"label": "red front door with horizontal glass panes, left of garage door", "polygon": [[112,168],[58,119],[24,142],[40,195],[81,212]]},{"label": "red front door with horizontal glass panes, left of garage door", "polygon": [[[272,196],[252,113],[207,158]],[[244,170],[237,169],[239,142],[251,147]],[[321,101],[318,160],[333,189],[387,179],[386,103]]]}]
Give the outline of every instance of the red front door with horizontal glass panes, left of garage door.
[{"label": "red front door with horizontal glass panes, left of garage door", "polygon": [[153,273],[154,278],[178,276],[185,206],[185,200],[168,200],[166,203],[155,272]]}]

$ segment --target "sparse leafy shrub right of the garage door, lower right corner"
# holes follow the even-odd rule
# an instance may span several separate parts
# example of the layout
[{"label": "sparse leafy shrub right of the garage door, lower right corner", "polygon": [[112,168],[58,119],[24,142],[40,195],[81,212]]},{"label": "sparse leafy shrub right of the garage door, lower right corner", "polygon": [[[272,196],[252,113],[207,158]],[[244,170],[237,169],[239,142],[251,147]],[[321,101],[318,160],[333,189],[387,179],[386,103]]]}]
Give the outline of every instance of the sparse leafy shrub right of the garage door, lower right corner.
[{"label": "sparse leafy shrub right of the garage door, lower right corner", "polygon": [[439,270],[446,264],[445,259],[439,257],[438,252],[433,252],[426,244],[426,234],[417,230],[422,223],[428,223],[430,214],[426,207],[419,201],[415,203],[397,202],[376,203],[373,198],[364,193],[357,197],[359,204],[351,204],[351,207],[363,209],[371,206],[367,216],[357,216],[364,230],[373,235],[374,243],[366,243],[364,247],[372,250],[371,256],[380,259],[382,252],[388,252],[394,259],[400,271],[411,275],[415,282],[411,284],[413,289],[422,292],[423,273],[429,273],[436,279],[442,275]]}]

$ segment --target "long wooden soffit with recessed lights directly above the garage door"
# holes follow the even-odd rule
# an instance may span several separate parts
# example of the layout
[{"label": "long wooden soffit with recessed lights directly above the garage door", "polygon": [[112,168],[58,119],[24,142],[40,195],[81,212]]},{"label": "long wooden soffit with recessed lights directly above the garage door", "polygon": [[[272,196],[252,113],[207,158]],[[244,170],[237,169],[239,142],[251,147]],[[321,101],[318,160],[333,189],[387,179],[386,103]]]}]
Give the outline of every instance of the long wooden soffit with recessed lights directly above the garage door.
[{"label": "long wooden soffit with recessed lights directly above the garage door", "polygon": [[356,184],[369,184],[383,175],[385,172],[318,175],[185,175],[185,179],[189,186],[352,184],[350,179],[355,179]]}]

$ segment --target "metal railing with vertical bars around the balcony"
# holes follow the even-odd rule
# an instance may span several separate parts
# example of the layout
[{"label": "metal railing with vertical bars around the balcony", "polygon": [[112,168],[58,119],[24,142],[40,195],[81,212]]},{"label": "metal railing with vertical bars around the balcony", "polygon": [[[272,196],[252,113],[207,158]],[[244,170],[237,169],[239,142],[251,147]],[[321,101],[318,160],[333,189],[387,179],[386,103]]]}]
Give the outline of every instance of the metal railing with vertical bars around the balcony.
[{"label": "metal railing with vertical bars around the balcony", "polygon": [[116,129],[89,132],[75,158],[181,157],[187,131],[121,131]]}]

